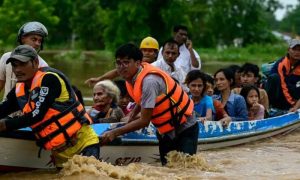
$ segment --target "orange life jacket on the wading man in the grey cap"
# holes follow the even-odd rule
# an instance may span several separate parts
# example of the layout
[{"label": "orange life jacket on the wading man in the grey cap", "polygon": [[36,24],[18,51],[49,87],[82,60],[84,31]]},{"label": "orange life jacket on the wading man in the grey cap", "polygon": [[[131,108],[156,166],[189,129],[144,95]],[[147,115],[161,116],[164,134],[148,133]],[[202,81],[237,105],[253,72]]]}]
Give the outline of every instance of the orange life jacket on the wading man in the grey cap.
[{"label": "orange life jacket on the wading man in the grey cap", "polygon": [[[59,71],[46,67],[41,68],[35,74],[30,87],[30,93],[26,93],[25,84],[16,84],[16,97],[24,114],[38,111],[39,103],[43,101],[43,93],[46,89],[41,88],[41,82],[45,74],[53,73],[58,75],[66,85],[69,99],[64,102],[54,102],[44,118],[31,126],[37,139],[37,144],[47,150],[55,149],[72,143],[72,138],[81,128],[83,123],[91,124],[92,120],[85,112],[84,107],[78,101],[67,78]],[[36,97],[36,92],[40,96]]]}]

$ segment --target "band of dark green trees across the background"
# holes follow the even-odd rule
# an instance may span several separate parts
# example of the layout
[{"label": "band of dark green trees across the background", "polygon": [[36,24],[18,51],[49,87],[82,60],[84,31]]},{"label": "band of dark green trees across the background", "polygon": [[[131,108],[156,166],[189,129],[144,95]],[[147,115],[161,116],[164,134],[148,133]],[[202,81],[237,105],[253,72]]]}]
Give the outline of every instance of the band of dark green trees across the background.
[{"label": "band of dark green trees across the background", "polygon": [[[195,47],[231,45],[234,39],[244,46],[272,43],[274,27],[290,30],[275,20],[278,8],[278,0],[0,0],[0,45],[16,43],[28,21],[48,28],[47,46],[66,49],[112,50],[146,36],[162,43],[177,24],[189,28]],[[299,21],[294,12],[289,16]]]}]

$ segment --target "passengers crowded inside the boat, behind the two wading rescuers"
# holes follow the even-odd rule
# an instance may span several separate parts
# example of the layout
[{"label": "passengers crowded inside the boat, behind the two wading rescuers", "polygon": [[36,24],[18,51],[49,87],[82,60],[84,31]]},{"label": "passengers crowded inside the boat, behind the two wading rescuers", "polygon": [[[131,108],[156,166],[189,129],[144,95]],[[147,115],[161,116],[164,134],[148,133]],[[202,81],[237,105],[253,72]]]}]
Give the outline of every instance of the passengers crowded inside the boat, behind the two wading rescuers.
[{"label": "passengers crowded inside the boat, behind the two wading rescuers", "polygon": [[[298,108],[296,102],[299,99],[300,85],[297,86],[295,82],[300,80],[300,71],[297,68],[300,40],[293,39],[289,44],[287,56],[276,61],[275,65],[272,64],[272,69],[265,72],[269,73],[268,76],[263,75],[262,78],[258,65],[248,62],[241,66],[221,68],[214,74],[201,71],[200,56],[192,48],[187,33],[185,26],[176,26],[173,38],[167,40],[160,49],[153,37],[143,39],[139,48],[143,53],[144,63],[165,71],[189,94],[194,102],[194,114],[199,120],[220,120],[227,125],[230,121],[259,120]],[[85,83],[93,85],[117,77],[117,69],[114,69],[97,78],[90,78]],[[120,97],[123,116],[119,116],[118,121],[126,121],[128,118],[122,118],[132,110],[134,103],[127,92],[125,81],[123,80],[122,85],[121,81],[118,80],[118,88],[123,92]],[[97,102],[99,98],[110,96],[107,93],[99,97],[94,87],[93,108],[101,109],[99,106],[103,106],[104,100],[101,101],[101,105],[97,105]],[[115,91],[114,96],[119,94]],[[125,108],[124,102],[127,102],[130,108]],[[116,102],[106,105],[116,107],[115,104]],[[99,113],[111,111],[104,107]]]}]

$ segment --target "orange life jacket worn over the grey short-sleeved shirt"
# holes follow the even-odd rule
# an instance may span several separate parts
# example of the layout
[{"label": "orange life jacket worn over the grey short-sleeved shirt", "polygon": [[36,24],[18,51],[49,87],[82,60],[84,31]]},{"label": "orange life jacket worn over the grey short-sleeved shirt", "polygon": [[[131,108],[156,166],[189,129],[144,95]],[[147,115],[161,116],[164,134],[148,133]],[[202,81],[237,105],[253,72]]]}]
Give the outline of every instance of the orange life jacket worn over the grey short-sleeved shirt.
[{"label": "orange life jacket worn over the grey short-sleeved shirt", "polygon": [[128,93],[137,104],[141,103],[142,82],[148,74],[159,75],[166,83],[167,92],[155,99],[151,119],[159,133],[164,134],[187,121],[187,117],[193,113],[194,103],[166,72],[148,63],[142,63],[142,70],[137,75],[134,86],[126,82]]}]

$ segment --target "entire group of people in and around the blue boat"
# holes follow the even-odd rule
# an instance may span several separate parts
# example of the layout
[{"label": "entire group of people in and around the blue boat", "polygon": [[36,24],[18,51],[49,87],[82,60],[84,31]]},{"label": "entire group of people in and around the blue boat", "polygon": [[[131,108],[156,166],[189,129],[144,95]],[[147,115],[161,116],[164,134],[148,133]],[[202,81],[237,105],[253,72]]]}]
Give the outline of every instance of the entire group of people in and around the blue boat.
[{"label": "entire group of people in and around the blue boat", "polygon": [[[57,167],[74,154],[99,158],[100,146],[117,136],[146,127],[157,129],[162,165],[166,154],[197,152],[197,120],[256,120],[300,107],[300,40],[293,39],[261,83],[259,67],[245,63],[201,71],[199,54],[188,29],[174,27],[161,48],[153,37],[136,46],[125,43],[115,52],[116,69],[86,81],[94,85],[94,105],[85,111],[80,91],[59,70],[48,67],[38,52],[48,35],[40,22],[25,23],[17,46],[0,60],[0,132],[31,127],[37,145],[51,150]],[[116,77],[123,80],[112,81]],[[76,93],[76,92],[77,93]],[[271,107],[271,108],[270,108]],[[13,113],[13,114],[12,114]],[[273,114],[272,114],[273,113]],[[275,113],[276,115],[276,113]],[[126,122],[98,135],[92,123]]]}]

